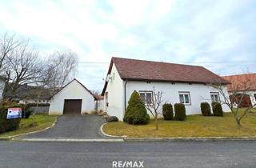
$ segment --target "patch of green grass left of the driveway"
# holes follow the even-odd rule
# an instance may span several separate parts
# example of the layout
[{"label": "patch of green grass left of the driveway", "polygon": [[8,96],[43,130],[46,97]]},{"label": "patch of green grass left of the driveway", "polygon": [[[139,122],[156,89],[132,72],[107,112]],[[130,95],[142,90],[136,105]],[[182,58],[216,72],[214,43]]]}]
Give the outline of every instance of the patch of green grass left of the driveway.
[{"label": "patch of green grass left of the driveway", "polygon": [[[56,118],[57,118],[56,116],[42,115],[42,114],[30,115],[30,118],[27,118],[27,119],[22,118],[19,124],[18,130],[9,131],[4,134],[0,134],[0,138],[11,137],[18,134],[33,132],[36,130],[42,130],[48,126],[51,126],[54,123]],[[36,126],[30,126],[31,123],[33,122],[37,123]]]}]

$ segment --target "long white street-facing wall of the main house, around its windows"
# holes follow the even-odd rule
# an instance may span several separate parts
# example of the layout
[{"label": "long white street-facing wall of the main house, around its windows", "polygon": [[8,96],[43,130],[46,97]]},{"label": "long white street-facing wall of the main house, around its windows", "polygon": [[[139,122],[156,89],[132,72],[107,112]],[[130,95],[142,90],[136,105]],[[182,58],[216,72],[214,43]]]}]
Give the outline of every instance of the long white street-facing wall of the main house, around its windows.
[{"label": "long white street-facing wall of the main house, around its windows", "polygon": [[[186,114],[201,114],[200,103],[211,103],[210,92],[218,92],[211,86],[205,86],[203,84],[188,84],[188,83],[175,83],[172,85],[170,82],[128,82],[126,85],[126,106],[130,95],[134,90],[153,90],[162,91],[162,98],[164,102],[170,102],[173,106],[179,101],[180,91],[190,92],[191,105],[186,105]],[[226,91],[227,94],[227,91]],[[224,100],[221,94],[219,94],[221,100]],[[228,106],[222,106],[223,111],[229,112]],[[149,113],[150,114],[150,113]]]}]

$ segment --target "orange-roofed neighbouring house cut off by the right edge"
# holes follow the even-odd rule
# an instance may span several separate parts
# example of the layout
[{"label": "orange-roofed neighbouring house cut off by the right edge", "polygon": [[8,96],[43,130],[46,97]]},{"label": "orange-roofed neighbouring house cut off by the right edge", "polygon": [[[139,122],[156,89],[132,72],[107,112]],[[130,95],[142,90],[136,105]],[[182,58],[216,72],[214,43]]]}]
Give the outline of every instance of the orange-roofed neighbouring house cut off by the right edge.
[{"label": "orange-roofed neighbouring house cut off by the right edge", "polygon": [[223,76],[230,85],[227,85],[227,90],[230,96],[243,96],[240,107],[255,106],[256,104],[256,74],[237,74],[230,76]]}]

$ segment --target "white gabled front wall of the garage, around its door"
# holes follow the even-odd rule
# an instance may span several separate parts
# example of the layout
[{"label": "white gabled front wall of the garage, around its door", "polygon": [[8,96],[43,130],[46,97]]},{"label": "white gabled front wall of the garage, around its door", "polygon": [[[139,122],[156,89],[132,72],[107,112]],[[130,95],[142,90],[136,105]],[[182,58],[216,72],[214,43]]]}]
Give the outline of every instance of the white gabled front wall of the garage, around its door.
[{"label": "white gabled front wall of the garage, around its door", "polygon": [[49,114],[63,114],[65,99],[82,99],[81,114],[95,109],[94,97],[76,80],[74,80],[51,98]]}]

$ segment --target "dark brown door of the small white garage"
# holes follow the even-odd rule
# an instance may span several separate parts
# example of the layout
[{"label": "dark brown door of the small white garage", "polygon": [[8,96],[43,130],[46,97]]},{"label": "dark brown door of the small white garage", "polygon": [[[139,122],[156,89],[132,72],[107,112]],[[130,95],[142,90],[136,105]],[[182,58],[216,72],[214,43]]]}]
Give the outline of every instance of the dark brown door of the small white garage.
[{"label": "dark brown door of the small white garage", "polygon": [[66,99],[63,114],[81,114],[82,99]]}]

